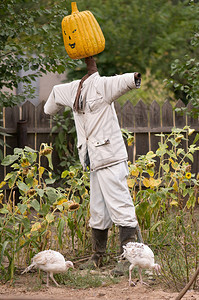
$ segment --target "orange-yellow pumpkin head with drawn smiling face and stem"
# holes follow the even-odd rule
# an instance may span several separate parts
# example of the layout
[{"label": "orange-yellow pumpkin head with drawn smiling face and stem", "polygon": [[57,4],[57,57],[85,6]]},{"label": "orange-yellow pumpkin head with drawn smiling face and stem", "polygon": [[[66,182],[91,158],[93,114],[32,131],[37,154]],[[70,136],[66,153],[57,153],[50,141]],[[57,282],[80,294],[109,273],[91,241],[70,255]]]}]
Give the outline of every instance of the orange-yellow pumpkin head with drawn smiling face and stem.
[{"label": "orange-yellow pumpkin head with drawn smiling face and stem", "polygon": [[72,59],[96,55],[105,48],[105,39],[93,14],[79,12],[76,2],[71,3],[72,13],[62,20],[62,34],[66,52]]}]

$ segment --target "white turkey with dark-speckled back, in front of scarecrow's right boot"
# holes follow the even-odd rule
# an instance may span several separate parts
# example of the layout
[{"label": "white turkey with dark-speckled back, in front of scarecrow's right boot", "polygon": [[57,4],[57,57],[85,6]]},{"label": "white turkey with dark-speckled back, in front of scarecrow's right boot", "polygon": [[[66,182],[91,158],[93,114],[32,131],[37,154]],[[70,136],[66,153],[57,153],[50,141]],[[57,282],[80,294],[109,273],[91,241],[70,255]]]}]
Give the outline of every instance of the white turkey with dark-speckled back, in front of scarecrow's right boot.
[{"label": "white turkey with dark-speckled back, in front of scarecrow's right boot", "polygon": [[131,280],[131,272],[134,267],[138,267],[140,275],[140,283],[145,284],[142,280],[141,269],[155,270],[157,274],[160,272],[160,265],[154,263],[153,251],[145,244],[129,242],[123,246],[124,252],[121,258],[126,258],[131,263],[129,267],[129,285],[135,285]]}]

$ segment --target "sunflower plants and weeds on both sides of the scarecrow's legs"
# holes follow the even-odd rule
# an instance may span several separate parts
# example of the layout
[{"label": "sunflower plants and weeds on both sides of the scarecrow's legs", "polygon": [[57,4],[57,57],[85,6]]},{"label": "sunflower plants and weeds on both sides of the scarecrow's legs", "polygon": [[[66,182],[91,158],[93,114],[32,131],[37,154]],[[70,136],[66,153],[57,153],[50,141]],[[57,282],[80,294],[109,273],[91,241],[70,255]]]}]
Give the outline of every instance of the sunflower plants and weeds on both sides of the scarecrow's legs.
[{"label": "sunflower plants and weeds on both sides of the scarecrow's legs", "polygon": [[[155,251],[162,266],[160,279],[179,290],[198,266],[197,209],[199,175],[191,164],[199,147],[199,134],[186,126],[159,134],[159,148],[129,162],[128,185],[143,239]],[[132,135],[123,130],[132,143]],[[182,143],[186,143],[184,150]],[[52,147],[40,150],[15,148],[2,161],[10,171],[0,183],[1,278],[13,280],[15,270],[34,254],[54,249],[82,257],[89,242],[89,171],[77,162],[53,178]],[[48,167],[43,167],[45,160]],[[61,184],[59,184],[61,183]],[[3,187],[8,186],[5,194]],[[58,187],[56,187],[58,186]],[[16,192],[19,197],[16,199]],[[117,228],[110,231],[109,254],[117,256]],[[63,277],[60,280],[64,282]],[[196,283],[195,283],[196,285]]]}]

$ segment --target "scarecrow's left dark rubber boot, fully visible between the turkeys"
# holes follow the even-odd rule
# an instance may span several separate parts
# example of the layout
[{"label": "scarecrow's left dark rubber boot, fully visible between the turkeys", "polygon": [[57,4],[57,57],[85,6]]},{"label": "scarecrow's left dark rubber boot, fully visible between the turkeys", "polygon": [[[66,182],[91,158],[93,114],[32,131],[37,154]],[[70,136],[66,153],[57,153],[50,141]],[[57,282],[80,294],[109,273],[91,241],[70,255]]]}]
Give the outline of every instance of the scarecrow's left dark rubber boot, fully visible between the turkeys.
[{"label": "scarecrow's left dark rubber boot, fully visible between the turkeys", "polygon": [[80,270],[96,269],[102,266],[102,259],[106,251],[107,238],[108,229],[100,230],[92,228],[92,247],[94,253],[86,263],[79,266]]}]

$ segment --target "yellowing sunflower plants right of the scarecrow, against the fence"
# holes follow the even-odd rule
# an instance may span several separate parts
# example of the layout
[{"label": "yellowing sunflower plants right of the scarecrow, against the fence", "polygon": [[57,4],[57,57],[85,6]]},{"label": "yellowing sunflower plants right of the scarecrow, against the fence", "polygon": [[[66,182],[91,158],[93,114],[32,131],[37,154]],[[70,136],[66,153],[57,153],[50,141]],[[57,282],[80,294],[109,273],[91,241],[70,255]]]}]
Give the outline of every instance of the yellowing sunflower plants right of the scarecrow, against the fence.
[{"label": "yellowing sunflower plants right of the scarecrow, against the fence", "polygon": [[[139,223],[149,230],[149,237],[158,226],[158,221],[172,208],[194,208],[198,199],[199,176],[191,173],[190,162],[199,150],[196,145],[199,134],[185,151],[182,142],[193,134],[189,126],[183,129],[173,128],[168,135],[161,137],[159,148],[141,155],[134,164],[130,164],[128,184],[131,189]],[[157,168],[157,164],[159,167]],[[138,190],[138,192],[136,192]]]}]

